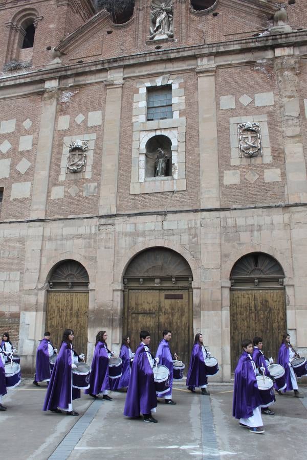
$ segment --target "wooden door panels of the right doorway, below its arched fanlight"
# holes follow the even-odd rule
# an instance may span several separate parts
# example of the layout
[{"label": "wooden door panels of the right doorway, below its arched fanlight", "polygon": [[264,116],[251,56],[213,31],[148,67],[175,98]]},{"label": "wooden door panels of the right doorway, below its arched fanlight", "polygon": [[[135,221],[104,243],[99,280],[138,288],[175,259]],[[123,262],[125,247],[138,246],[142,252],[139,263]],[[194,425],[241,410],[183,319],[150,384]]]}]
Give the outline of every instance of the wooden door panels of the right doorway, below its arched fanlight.
[{"label": "wooden door panels of the right doorway, below its arched fanlight", "polygon": [[255,336],[264,341],[264,353],[276,360],[281,336],[287,330],[284,289],[230,291],[231,369],[242,353],[241,342]]}]

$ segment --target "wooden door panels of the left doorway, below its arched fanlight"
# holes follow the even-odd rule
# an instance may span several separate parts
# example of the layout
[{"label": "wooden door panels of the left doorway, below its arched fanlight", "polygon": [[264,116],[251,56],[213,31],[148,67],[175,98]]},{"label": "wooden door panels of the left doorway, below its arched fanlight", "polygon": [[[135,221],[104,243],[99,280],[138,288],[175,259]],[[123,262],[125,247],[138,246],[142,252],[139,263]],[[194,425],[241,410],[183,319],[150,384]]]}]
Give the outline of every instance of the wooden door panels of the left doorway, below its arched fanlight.
[{"label": "wooden door panels of the left doorway, below its arched fanlight", "polygon": [[77,353],[87,352],[87,319],[89,314],[88,292],[48,292],[46,331],[51,341],[60,349],[63,330],[74,330],[74,349]]}]

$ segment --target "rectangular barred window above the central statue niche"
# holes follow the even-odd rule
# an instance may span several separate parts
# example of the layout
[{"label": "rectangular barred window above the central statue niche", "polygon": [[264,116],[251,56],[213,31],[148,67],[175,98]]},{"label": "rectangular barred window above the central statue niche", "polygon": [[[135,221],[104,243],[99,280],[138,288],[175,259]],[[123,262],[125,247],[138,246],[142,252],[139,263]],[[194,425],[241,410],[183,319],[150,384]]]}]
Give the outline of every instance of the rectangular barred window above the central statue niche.
[{"label": "rectangular barred window above the central statue niche", "polygon": [[147,121],[173,118],[171,85],[147,89]]}]

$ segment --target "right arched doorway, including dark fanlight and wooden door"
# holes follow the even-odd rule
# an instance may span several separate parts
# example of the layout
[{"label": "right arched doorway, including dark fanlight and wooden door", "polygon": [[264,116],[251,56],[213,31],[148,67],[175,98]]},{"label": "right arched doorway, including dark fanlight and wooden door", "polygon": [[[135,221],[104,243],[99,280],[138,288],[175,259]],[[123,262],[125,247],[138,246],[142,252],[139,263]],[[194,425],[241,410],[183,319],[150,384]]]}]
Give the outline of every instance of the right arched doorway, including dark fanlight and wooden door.
[{"label": "right arched doorway, including dark fanlight and wooden door", "polygon": [[242,353],[241,341],[259,336],[268,357],[277,358],[281,335],[287,330],[284,273],[268,254],[251,252],[230,274],[231,370]]}]

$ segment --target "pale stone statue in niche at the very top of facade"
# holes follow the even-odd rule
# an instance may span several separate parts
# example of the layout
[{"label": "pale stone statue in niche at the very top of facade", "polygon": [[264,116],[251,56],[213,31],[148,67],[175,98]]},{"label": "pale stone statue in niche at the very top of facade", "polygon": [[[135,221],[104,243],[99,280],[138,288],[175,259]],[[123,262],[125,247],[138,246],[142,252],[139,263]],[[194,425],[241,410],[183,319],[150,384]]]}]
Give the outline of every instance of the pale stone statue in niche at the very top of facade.
[{"label": "pale stone statue in niche at the very top of facade", "polygon": [[150,11],[150,40],[173,38],[173,6],[172,0],[152,0]]}]

